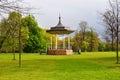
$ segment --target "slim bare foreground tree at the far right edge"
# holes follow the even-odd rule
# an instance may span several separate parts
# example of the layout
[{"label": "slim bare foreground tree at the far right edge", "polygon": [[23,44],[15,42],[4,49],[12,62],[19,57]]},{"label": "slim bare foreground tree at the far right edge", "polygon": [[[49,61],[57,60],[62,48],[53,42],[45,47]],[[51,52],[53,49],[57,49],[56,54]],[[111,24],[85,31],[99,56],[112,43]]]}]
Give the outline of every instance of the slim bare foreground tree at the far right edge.
[{"label": "slim bare foreground tree at the far right edge", "polygon": [[114,30],[115,39],[116,39],[116,63],[119,63],[118,52],[119,52],[119,30],[120,30],[120,19],[119,19],[119,17],[120,17],[120,1],[119,0],[114,0],[114,1],[109,0],[109,5],[110,5],[110,8],[107,9],[109,11],[109,15],[108,15],[109,18],[106,18],[106,19],[107,19],[107,21],[110,21],[112,19],[110,24],[113,24],[112,26],[114,26],[113,30]]}]

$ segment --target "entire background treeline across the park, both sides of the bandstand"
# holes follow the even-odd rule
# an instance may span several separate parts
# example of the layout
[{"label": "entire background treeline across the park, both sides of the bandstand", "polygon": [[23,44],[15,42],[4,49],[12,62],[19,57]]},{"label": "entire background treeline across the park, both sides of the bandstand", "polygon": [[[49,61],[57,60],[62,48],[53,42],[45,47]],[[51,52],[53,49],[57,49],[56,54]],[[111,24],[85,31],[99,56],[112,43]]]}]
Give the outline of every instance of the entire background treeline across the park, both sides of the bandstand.
[{"label": "entire background treeline across the park, both sides of the bandstand", "polygon": [[[109,16],[108,12],[104,14]],[[103,16],[104,20],[106,19]],[[71,48],[74,52],[78,50],[83,52],[115,51],[115,32],[111,35],[112,32],[110,30],[112,31],[107,26],[101,40],[95,29],[90,27],[86,21],[82,21],[75,31],[75,35],[71,37]],[[21,35],[19,35],[20,32]],[[0,52],[2,53],[19,52],[19,46],[21,46],[22,52],[25,53],[43,53],[51,47],[51,37],[52,48],[55,48],[56,35],[46,33],[46,29],[42,29],[32,15],[23,17],[18,12],[11,12],[8,18],[4,18],[0,22]],[[21,45],[19,39],[21,40]],[[67,43],[67,37],[65,40]],[[61,39],[58,39],[58,46],[63,47]]]}]

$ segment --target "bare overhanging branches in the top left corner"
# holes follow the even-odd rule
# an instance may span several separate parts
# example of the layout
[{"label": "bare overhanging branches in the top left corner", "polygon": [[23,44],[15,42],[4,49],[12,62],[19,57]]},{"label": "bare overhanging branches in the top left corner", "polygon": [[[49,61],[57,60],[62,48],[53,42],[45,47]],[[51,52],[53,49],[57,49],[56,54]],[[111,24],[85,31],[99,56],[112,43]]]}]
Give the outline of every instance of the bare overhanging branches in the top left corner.
[{"label": "bare overhanging branches in the top left corner", "polygon": [[0,15],[12,11],[19,11],[20,13],[26,14],[28,10],[32,8],[24,7],[22,1],[23,0],[0,0]]}]

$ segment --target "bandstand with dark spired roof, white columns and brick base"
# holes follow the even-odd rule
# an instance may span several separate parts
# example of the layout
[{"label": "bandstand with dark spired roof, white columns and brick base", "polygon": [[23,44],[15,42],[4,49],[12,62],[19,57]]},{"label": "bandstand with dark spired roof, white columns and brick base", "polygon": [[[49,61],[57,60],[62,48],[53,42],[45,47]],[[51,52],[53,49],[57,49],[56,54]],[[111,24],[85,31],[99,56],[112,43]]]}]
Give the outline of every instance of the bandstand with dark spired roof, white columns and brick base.
[{"label": "bandstand with dark spired roof, white columns and brick base", "polygon": [[[70,46],[70,34],[74,31],[71,30],[69,27],[64,26],[61,23],[61,17],[59,16],[59,22],[55,27],[51,27],[49,30],[46,31],[47,33],[56,35],[56,42],[55,42],[55,48],[52,48],[52,36],[51,36],[51,48],[47,49],[48,55],[68,55],[73,54],[73,50]],[[58,35],[63,35],[63,47],[58,48]],[[65,46],[65,35],[68,37],[68,45]]]}]

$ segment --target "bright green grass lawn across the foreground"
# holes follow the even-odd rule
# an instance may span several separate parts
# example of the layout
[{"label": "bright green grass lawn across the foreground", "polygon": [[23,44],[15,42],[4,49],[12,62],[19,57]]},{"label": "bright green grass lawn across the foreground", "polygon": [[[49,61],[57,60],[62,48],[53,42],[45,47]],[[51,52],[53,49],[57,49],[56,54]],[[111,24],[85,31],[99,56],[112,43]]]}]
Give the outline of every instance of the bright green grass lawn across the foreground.
[{"label": "bright green grass lawn across the foreground", "polygon": [[120,80],[115,52],[81,55],[0,54],[0,80]]}]

